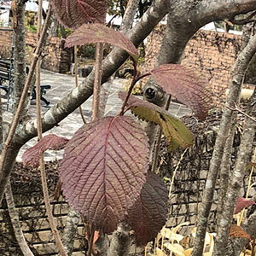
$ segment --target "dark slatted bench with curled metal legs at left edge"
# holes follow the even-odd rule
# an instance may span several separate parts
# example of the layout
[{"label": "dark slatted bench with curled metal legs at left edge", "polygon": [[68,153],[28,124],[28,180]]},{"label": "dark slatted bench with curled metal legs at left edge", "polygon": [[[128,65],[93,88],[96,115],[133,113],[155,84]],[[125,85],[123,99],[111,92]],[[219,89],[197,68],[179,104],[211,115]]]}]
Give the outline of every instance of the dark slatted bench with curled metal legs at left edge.
[{"label": "dark slatted bench with curled metal legs at left edge", "polygon": [[[14,91],[14,65],[13,59],[0,59],[0,89],[3,89],[6,92],[8,105],[11,104]],[[26,73],[28,73],[28,68],[26,68]],[[44,94],[46,90],[50,89],[49,84],[40,85],[40,99],[45,103],[44,107],[49,107],[49,101],[46,100]],[[36,98],[36,87],[33,87],[31,100]]]}]

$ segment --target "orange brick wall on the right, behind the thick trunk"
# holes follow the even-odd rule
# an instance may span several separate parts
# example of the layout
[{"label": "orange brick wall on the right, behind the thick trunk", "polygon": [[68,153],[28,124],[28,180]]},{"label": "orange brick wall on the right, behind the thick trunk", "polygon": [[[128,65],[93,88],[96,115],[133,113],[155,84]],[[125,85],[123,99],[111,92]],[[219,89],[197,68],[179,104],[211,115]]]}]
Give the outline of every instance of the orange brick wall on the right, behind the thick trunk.
[{"label": "orange brick wall on the right, behind the thick trunk", "polygon": [[[154,67],[165,26],[158,26],[148,36],[145,65],[143,69]],[[231,68],[240,50],[241,36],[223,32],[200,30],[189,40],[182,64],[194,67],[207,79],[218,104],[229,87]]]}]

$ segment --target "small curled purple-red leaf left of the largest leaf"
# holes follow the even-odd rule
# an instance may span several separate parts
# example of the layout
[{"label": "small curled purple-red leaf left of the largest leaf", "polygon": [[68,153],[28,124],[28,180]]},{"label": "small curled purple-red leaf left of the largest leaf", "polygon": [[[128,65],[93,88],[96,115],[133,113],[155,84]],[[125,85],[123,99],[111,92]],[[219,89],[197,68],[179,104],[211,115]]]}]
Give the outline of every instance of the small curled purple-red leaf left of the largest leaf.
[{"label": "small curled purple-red leaf left of the largest leaf", "polygon": [[44,136],[35,146],[26,149],[22,155],[22,162],[24,166],[39,166],[39,160],[42,153],[47,149],[60,150],[67,144],[66,137],[59,137],[55,134]]}]

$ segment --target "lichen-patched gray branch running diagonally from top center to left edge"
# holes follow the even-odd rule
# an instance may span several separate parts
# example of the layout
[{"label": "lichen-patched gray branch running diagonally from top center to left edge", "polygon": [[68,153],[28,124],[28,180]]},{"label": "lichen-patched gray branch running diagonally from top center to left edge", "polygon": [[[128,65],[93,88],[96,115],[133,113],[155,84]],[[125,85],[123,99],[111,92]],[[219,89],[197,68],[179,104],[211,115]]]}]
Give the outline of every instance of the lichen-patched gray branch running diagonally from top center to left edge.
[{"label": "lichen-patched gray branch running diagonally from top center to left edge", "polygon": [[[143,39],[153,30],[154,26],[166,15],[168,6],[169,1],[167,0],[154,1],[152,6],[143,15],[143,18],[137,22],[137,25],[134,26],[130,32],[127,32],[127,37],[130,38],[136,46],[141,44]],[[44,24],[46,23],[45,21]],[[112,53],[103,61],[102,83],[108,80],[125,62],[127,57],[128,55],[124,50],[113,49]],[[84,79],[84,82],[79,84],[79,87],[74,88],[66,97],[44,113],[42,117],[43,131],[48,131],[53,128],[62,119],[66,118],[69,113],[79,108],[79,106],[91,96],[93,79],[94,72],[90,73],[90,75]],[[10,150],[8,150],[8,155],[4,156],[4,159],[2,155],[1,160],[4,165],[3,170],[0,172],[0,203],[2,202],[5,185],[20,147],[37,134],[36,120],[31,119],[26,125],[18,125],[16,131],[13,129],[12,132],[12,144],[10,146],[5,145],[5,148],[12,148],[12,151],[10,153]]]}]

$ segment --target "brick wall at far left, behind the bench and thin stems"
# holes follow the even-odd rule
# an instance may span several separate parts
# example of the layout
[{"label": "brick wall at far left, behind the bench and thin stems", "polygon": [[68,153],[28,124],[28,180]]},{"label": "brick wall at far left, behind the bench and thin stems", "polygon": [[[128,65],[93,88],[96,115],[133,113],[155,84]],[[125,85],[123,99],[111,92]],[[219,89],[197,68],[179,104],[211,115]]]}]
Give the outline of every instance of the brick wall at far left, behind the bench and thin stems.
[{"label": "brick wall at far left, behind the bench and thin stems", "polygon": [[[11,50],[12,30],[0,28],[0,56],[8,58]],[[35,33],[26,32],[26,53],[27,62],[32,58],[33,49],[37,43]],[[44,50],[45,57],[42,62],[42,67],[57,73],[66,73],[70,70],[71,50],[64,49],[64,44],[61,38],[48,38],[46,48]]]}]

